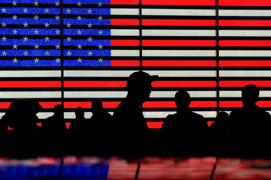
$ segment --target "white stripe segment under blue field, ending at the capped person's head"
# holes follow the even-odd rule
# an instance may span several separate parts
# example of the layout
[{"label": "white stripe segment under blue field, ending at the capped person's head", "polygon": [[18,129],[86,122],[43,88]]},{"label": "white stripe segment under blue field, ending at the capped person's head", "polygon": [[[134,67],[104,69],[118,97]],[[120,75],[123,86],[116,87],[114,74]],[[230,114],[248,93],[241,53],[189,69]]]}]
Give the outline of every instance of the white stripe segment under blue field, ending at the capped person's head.
[{"label": "white stripe segment under blue field, ending at the capped person's head", "polygon": [[136,70],[64,70],[64,77],[129,77]]}]

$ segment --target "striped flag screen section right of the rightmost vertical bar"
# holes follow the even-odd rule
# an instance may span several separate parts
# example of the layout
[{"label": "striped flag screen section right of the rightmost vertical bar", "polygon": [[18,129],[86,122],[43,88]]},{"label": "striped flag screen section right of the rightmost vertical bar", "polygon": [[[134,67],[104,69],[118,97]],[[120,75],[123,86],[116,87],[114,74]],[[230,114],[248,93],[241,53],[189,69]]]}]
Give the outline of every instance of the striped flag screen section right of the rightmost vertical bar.
[{"label": "striped flag screen section right of the rightmost vertical bar", "polygon": [[242,107],[241,87],[255,84],[260,87],[257,105],[269,112],[270,18],[270,1],[219,1],[220,110]]}]

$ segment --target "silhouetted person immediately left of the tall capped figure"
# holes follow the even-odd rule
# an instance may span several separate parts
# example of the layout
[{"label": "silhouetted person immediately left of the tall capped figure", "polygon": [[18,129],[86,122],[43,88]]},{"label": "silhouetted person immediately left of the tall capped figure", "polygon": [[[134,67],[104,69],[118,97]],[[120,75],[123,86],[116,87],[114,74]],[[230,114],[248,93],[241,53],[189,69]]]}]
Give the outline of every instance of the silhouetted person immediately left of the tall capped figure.
[{"label": "silhouetted person immediately left of the tall capped figure", "polygon": [[94,99],[91,102],[92,116],[88,120],[89,139],[91,139],[92,154],[106,155],[110,137],[112,136],[112,115],[104,110],[102,101]]}]

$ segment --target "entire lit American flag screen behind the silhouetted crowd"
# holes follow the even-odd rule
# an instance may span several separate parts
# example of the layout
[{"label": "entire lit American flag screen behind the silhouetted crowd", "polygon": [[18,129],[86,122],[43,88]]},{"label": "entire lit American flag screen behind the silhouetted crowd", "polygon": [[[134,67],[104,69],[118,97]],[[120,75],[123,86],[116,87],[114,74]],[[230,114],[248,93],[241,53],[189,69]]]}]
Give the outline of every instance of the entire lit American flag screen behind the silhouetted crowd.
[{"label": "entire lit American flag screen behind the silhouetted crowd", "polygon": [[[217,4],[218,2],[218,4]],[[191,110],[213,122],[241,107],[241,87],[260,87],[270,109],[271,2],[252,0],[0,0],[0,116],[15,98],[37,99],[39,119],[63,104],[92,116],[100,98],[113,114],[138,70],[152,82],[143,115],[161,128],[186,90]],[[270,112],[269,112],[270,113]]]}]

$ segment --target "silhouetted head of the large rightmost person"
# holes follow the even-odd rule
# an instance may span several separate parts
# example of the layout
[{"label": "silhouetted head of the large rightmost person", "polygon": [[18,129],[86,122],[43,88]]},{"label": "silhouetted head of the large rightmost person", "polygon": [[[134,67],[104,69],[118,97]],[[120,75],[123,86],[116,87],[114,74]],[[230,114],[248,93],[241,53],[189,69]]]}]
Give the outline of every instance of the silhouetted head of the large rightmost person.
[{"label": "silhouetted head of the large rightmost person", "polygon": [[259,98],[260,90],[254,84],[245,85],[242,88],[242,103],[245,107],[255,106]]}]

